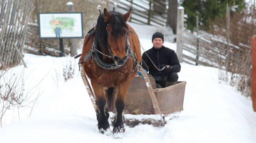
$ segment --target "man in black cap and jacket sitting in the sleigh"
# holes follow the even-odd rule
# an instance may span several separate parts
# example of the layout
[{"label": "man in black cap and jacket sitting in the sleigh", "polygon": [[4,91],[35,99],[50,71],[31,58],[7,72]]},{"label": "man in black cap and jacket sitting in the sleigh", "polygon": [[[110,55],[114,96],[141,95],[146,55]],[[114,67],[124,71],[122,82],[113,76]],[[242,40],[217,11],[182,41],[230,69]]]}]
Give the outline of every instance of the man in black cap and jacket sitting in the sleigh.
[{"label": "man in black cap and jacket sitting in the sleigh", "polygon": [[[153,47],[142,54],[142,59],[148,67],[149,74],[156,81],[156,87],[167,87],[177,83],[178,81],[178,72],[180,72],[180,62],[174,50],[163,46],[164,35],[160,32],[156,32],[152,36]],[[154,62],[158,71],[150,59]],[[144,69],[147,69],[143,65]],[[161,85],[161,86],[159,86]]]}]

